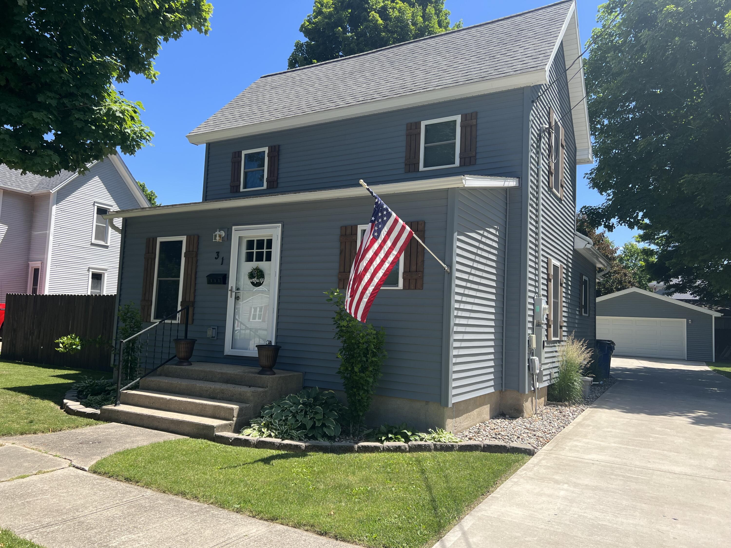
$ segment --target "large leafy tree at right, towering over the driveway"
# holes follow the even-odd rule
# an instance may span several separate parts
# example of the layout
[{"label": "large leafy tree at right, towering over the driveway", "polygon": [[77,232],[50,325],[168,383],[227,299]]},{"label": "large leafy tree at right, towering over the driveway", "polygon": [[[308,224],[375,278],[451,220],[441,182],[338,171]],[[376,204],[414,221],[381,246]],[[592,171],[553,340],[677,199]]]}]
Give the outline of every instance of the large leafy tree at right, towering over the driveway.
[{"label": "large leafy tree at right, towering over the driveway", "polygon": [[731,0],[610,0],[599,23],[588,178],[606,200],[584,212],[641,229],[669,289],[731,297]]}]

